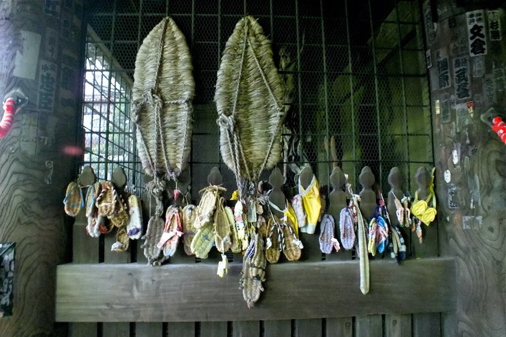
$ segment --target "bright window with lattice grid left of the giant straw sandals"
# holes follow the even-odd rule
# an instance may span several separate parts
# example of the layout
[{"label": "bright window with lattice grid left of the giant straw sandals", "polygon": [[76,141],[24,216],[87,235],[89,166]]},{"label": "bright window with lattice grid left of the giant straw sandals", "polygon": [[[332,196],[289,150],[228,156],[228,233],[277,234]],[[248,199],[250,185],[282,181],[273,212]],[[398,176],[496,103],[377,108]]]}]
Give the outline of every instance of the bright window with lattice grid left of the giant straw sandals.
[{"label": "bright window with lattice grid left of the giant straw sandals", "polygon": [[132,80],[125,75],[109,49],[88,27],[82,100],[85,155],[99,180],[111,179],[122,167],[129,192],[140,194],[141,166],[135,146],[135,125],[130,123]]}]

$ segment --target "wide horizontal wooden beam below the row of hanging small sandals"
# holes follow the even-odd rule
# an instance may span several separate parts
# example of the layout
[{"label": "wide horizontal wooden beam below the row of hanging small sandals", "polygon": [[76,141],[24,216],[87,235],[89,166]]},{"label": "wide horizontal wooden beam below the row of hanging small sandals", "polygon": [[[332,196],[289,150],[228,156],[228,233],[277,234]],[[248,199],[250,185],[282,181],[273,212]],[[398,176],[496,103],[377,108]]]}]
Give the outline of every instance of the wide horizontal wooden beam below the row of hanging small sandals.
[{"label": "wide horizontal wooden beam below the row of hanging small sandals", "polygon": [[269,265],[265,291],[248,309],[240,264],[223,279],[212,264],[65,264],[57,269],[58,322],[297,319],[444,312],[456,308],[453,258],[370,262],[370,292],[358,261]]}]

